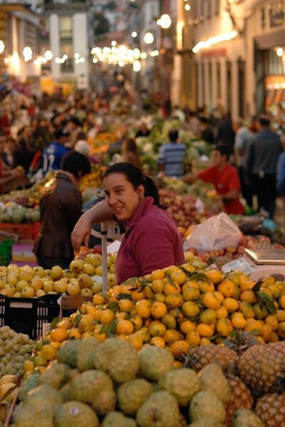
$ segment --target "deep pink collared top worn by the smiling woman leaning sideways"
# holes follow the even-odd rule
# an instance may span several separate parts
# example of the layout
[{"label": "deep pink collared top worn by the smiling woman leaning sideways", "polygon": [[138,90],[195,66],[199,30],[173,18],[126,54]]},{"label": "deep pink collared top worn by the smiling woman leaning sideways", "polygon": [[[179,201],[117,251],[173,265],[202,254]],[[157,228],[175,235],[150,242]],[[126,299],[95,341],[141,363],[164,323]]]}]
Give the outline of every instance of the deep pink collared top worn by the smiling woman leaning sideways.
[{"label": "deep pink collared top worn by the smiling woman leaning sideways", "polygon": [[146,197],[127,224],[118,252],[118,283],[185,262],[182,240],[170,214]]}]

